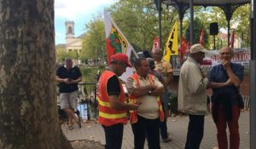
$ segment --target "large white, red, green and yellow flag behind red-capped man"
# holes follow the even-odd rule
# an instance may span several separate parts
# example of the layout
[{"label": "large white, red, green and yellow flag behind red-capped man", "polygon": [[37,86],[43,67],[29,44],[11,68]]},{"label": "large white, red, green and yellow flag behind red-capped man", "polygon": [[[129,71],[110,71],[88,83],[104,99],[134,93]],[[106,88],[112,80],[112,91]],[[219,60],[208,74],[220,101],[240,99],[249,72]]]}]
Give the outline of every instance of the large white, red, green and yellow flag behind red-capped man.
[{"label": "large white, red, green and yellow flag behind red-capped man", "polygon": [[[119,27],[113,22],[107,11],[104,11],[105,32],[106,32],[106,47],[108,55],[108,65],[110,64],[111,56],[115,53],[124,53],[130,58],[131,51],[137,56],[131,44],[119,30]],[[133,70],[130,67],[126,68],[126,72],[120,77],[124,82],[131,76]]]}]

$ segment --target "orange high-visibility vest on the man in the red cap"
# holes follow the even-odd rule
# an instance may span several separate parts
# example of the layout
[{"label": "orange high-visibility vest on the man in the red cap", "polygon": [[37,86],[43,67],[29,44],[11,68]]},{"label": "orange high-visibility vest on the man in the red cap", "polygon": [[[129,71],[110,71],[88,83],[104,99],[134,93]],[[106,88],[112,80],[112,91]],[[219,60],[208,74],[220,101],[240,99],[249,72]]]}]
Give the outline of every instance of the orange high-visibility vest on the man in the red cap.
[{"label": "orange high-visibility vest on the man in the red cap", "polygon": [[[98,102],[99,102],[99,123],[104,126],[112,126],[116,123],[127,123],[127,112],[126,110],[118,111],[109,106],[107,83],[110,77],[115,74],[110,71],[105,71],[99,79],[98,86]],[[120,95],[119,101],[125,103],[125,91],[123,89],[122,83],[119,81]]]}]

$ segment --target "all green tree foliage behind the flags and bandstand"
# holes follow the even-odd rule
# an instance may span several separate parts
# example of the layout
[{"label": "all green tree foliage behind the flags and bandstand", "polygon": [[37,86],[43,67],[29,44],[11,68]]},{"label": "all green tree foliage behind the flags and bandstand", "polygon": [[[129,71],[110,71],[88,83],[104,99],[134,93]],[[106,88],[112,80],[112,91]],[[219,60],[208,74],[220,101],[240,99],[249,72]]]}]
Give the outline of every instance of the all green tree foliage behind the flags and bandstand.
[{"label": "all green tree foliage behind the flags and bandstand", "polygon": [[[152,49],[153,39],[159,35],[158,11],[152,0],[119,0],[107,8],[114,22],[119,26],[129,43],[137,51]],[[236,9],[230,21],[231,30],[236,28],[236,36],[243,38],[243,47],[249,45],[249,4]],[[183,19],[183,37],[186,37],[186,29],[189,27],[189,9],[186,10]],[[162,4],[162,47],[170,34],[173,24],[178,20],[177,9]],[[211,49],[213,37],[209,35],[210,23],[218,22],[218,28],[227,30],[227,21],[222,9],[218,7],[195,7],[194,43],[198,43],[201,28],[205,29],[205,46]],[[83,49],[80,59],[106,59],[105,28],[102,14],[97,14],[85,25],[86,36],[83,41]],[[180,30],[180,28],[178,28]],[[179,39],[178,33],[178,39]],[[217,48],[227,45],[227,40],[221,40],[216,36]]]}]

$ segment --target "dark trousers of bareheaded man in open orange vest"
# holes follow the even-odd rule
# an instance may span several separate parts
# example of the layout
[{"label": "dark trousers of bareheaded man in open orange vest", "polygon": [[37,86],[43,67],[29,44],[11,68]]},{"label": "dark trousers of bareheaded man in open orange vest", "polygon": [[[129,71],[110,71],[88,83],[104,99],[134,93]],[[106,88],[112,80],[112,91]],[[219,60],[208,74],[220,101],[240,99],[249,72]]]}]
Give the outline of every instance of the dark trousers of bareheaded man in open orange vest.
[{"label": "dark trousers of bareheaded man in open orange vest", "polygon": [[160,149],[159,118],[148,119],[137,115],[137,123],[132,123],[135,149],[143,149],[145,139],[148,140],[148,149]]}]

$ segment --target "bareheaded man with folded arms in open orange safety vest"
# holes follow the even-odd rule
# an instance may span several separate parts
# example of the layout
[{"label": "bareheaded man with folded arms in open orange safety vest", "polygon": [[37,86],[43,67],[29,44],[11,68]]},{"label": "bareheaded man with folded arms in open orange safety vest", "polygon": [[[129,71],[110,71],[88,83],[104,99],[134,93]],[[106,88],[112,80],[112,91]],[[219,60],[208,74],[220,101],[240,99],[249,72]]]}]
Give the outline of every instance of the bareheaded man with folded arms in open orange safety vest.
[{"label": "bareheaded man with folded arms in open orange safety vest", "polygon": [[148,140],[148,148],[160,148],[160,121],[165,115],[160,103],[160,95],[164,93],[164,86],[157,77],[149,74],[148,60],[138,58],[134,62],[136,73],[127,79],[126,89],[129,102],[139,104],[137,110],[130,111],[131,128],[134,135],[135,149],[144,146]]}]

